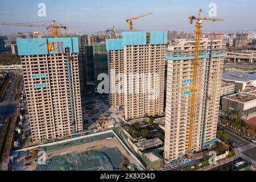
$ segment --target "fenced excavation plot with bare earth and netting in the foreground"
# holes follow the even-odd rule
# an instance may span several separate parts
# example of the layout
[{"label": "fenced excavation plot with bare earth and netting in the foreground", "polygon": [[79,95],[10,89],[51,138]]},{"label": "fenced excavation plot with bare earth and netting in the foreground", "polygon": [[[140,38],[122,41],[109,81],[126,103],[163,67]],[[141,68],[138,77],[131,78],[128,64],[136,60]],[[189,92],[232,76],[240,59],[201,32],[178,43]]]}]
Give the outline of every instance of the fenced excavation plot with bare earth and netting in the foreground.
[{"label": "fenced excavation plot with bare earth and netting in the foreground", "polygon": [[[40,163],[44,154],[45,163]],[[14,151],[10,168],[16,171],[121,171],[124,168],[142,170],[143,165],[109,130]]]}]

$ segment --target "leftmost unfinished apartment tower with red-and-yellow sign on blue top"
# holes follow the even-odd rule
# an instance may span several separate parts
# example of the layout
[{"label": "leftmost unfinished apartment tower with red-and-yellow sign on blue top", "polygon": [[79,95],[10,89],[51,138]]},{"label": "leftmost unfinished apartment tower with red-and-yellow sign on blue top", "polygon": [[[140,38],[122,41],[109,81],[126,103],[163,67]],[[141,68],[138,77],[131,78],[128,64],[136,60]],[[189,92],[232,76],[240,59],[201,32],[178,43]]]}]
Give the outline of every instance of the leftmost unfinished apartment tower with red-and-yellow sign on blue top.
[{"label": "leftmost unfinished apartment tower with red-and-yellow sign on blue top", "polygon": [[77,38],[18,39],[32,141],[82,131]]}]

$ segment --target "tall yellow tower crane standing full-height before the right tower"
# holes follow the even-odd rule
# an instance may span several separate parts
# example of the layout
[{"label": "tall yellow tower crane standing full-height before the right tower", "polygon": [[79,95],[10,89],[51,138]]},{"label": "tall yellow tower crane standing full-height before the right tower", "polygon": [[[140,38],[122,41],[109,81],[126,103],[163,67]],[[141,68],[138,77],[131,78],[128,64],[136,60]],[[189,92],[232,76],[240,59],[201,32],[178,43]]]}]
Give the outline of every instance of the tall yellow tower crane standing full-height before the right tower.
[{"label": "tall yellow tower crane standing full-height before the right tower", "polygon": [[220,18],[203,18],[201,17],[202,10],[199,10],[199,15],[196,18],[195,16],[189,16],[189,23],[193,24],[193,20],[196,20],[195,25],[195,57],[193,59],[193,82],[192,82],[192,90],[191,90],[191,109],[190,109],[190,119],[189,119],[189,135],[188,135],[188,152],[187,157],[191,159],[192,152],[192,141],[193,141],[193,122],[195,117],[195,100],[196,100],[196,83],[197,83],[197,67],[199,65],[199,46],[200,46],[200,37],[201,37],[201,28],[203,24],[203,20],[224,20]]}]

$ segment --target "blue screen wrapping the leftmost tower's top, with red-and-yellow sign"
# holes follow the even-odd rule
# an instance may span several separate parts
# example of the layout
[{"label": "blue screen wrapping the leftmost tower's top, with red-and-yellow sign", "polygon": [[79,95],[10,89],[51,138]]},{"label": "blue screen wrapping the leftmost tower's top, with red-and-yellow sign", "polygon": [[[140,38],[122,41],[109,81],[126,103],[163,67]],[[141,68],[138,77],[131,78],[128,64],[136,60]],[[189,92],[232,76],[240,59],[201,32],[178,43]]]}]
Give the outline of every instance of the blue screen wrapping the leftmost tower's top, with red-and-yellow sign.
[{"label": "blue screen wrapping the leftmost tower's top, with red-and-yellow sign", "polygon": [[64,53],[69,47],[71,53],[79,52],[78,38],[17,39],[18,55],[48,55]]}]

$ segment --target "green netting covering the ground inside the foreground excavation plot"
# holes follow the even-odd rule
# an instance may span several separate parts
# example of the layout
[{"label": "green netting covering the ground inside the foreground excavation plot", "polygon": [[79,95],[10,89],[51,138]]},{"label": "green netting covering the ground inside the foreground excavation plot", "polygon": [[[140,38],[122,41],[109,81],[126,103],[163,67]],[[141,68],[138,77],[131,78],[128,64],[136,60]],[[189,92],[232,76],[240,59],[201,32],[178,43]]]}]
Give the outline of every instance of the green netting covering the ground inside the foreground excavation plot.
[{"label": "green netting covering the ground inside the foreground excavation plot", "polygon": [[122,154],[118,148],[102,148],[81,153],[72,152],[52,156],[46,164],[36,166],[36,171],[119,171]]}]

